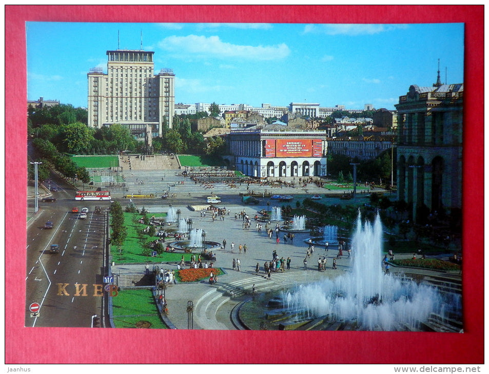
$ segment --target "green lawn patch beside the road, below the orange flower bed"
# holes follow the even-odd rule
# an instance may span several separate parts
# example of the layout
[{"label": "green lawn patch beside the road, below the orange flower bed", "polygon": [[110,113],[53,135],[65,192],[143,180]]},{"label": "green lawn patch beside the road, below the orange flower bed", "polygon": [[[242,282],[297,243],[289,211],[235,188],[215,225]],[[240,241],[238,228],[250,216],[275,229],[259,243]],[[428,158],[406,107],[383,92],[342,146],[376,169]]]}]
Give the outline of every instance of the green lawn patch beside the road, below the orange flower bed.
[{"label": "green lawn patch beside the road, below the orange flower bed", "polygon": [[161,320],[158,306],[149,289],[123,289],[112,298],[112,319],[115,327],[137,328],[147,321],[149,328],[168,328]]}]

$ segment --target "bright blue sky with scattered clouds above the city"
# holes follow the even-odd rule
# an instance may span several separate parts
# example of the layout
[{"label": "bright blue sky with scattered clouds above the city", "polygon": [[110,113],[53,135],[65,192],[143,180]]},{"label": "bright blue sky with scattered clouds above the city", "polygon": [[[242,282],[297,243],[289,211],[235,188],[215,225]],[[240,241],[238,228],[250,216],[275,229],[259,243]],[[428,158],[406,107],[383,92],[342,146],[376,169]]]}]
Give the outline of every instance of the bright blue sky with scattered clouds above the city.
[{"label": "bright blue sky with scattered clouds above the city", "polygon": [[[154,51],[175,102],[395,109],[410,85],[463,82],[463,24],[27,23],[27,95],[87,106],[107,50]],[[119,33],[119,42],[118,42]]]}]

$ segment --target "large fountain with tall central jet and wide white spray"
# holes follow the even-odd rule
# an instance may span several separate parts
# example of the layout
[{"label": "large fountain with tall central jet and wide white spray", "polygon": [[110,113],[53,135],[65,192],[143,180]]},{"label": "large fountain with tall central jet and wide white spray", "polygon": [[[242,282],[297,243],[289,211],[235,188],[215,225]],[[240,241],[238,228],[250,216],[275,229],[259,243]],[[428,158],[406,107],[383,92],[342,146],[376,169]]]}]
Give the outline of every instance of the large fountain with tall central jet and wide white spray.
[{"label": "large fountain with tall central jet and wide white spray", "polygon": [[363,226],[359,215],[351,248],[353,272],[282,294],[292,320],[324,317],[345,329],[383,331],[422,330],[433,316],[461,320],[459,294],[442,295],[436,287],[384,273],[378,215]]}]

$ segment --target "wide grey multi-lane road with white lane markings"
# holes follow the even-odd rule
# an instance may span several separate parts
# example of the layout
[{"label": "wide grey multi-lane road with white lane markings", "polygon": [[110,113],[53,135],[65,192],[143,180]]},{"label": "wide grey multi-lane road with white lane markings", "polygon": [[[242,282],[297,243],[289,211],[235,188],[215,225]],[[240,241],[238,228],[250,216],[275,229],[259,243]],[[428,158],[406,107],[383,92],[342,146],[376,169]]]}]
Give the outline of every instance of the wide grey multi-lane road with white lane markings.
[{"label": "wide grey multi-lane road with white lane markings", "polygon": [[[108,201],[76,201],[74,191],[61,181],[53,185],[61,192],[53,193],[55,202],[39,202],[41,216],[27,231],[26,322],[27,327],[90,327],[93,315],[102,315],[104,216]],[[81,204],[83,203],[83,204]],[[33,201],[29,201],[33,204]],[[95,205],[103,207],[94,213]],[[72,207],[89,208],[87,219],[78,219]],[[52,221],[54,227],[45,229]],[[58,244],[58,254],[49,252]],[[29,305],[41,305],[38,315],[31,317]]]}]

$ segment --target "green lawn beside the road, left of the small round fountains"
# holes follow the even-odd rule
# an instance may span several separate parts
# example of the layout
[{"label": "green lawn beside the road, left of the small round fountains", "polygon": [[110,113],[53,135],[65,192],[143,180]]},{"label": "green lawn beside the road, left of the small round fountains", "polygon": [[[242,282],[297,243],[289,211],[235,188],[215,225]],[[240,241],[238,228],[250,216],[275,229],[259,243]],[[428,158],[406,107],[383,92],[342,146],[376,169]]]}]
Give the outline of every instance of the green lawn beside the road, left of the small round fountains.
[{"label": "green lawn beside the road, left of the small round fountains", "polygon": [[[154,213],[154,216],[164,217],[166,216],[166,213]],[[145,224],[138,222],[140,218],[141,215],[138,213],[124,212],[124,225],[127,228],[127,237],[123,245],[123,254],[121,257],[117,251],[117,248],[112,245],[111,246],[112,261],[114,261],[115,263],[178,262],[182,259],[182,255],[184,256],[185,261],[190,261],[190,257],[192,256],[192,254],[191,253],[184,254],[183,252],[173,252],[173,253],[164,252],[161,255],[157,255],[156,257],[144,256],[142,254],[143,244],[154,241],[158,239],[158,237],[143,234],[143,241],[140,240],[140,236],[137,230],[146,227]],[[167,238],[166,242],[163,243],[163,245],[166,245],[166,243],[168,243],[171,240],[172,240],[171,238]],[[196,253],[200,253],[200,250],[198,250]]]}]

